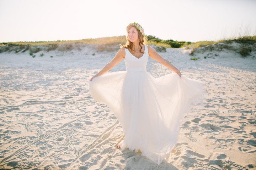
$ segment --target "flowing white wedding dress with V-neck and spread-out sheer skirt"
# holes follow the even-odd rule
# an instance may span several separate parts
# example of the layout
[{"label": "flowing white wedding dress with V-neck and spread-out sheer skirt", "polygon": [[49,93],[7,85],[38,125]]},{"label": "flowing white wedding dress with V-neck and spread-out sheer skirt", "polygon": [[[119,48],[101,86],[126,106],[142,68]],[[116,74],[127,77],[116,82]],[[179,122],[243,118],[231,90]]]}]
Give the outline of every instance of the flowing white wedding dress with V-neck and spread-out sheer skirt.
[{"label": "flowing white wedding dress with V-neck and spread-out sheer skirt", "polygon": [[154,78],[146,70],[148,46],[137,58],[125,49],[126,71],[105,73],[89,81],[95,101],[114,112],[125,138],[121,149],[129,148],[158,165],[174,148],[180,120],[194,105],[203,104],[204,83],[177,73]]}]

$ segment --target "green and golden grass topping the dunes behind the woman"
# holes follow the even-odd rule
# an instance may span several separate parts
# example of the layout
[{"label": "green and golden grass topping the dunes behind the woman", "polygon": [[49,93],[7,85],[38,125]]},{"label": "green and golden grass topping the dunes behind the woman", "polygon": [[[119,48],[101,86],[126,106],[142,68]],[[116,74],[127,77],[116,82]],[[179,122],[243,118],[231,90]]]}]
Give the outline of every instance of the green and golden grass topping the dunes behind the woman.
[{"label": "green and golden grass topping the dunes behind the woman", "polygon": [[[218,41],[175,41],[175,40],[162,40],[153,35],[147,35],[148,41],[147,45],[155,45],[161,47],[161,50],[165,50],[165,48],[199,48],[202,46],[217,44],[219,42],[231,43],[233,41],[243,43],[243,44],[254,44],[256,42],[256,35],[254,36],[239,36],[238,38],[230,38],[230,39],[222,39]],[[98,51],[116,51],[119,48],[119,44],[125,44],[126,36],[112,36],[112,37],[101,37],[101,38],[89,38],[89,39],[81,39],[81,40],[57,40],[57,41],[18,41],[18,42],[1,42],[0,52],[5,51],[15,51],[15,52],[25,52],[29,50],[30,52],[36,53],[41,51],[42,49],[38,46],[47,46],[47,51],[58,50],[60,51],[68,51],[74,48],[80,49],[80,43],[82,44],[95,44],[97,45]],[[60,47],[62,45],[62,47]],[[15,48],[14,48],[15,47]],[[112,47],[112,48],[111,48]],[[248,51],[248,50],[247,50]],[[246,49],[241,51],[241,54],[246,55]]]}]

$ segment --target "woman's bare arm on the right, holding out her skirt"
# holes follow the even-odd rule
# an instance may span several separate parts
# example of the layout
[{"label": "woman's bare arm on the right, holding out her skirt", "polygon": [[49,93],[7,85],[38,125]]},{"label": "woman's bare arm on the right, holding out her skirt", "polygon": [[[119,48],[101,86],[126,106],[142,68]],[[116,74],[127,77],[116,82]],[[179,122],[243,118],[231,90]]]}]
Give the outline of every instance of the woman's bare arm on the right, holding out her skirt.
[{"label": "woman's bare arm on the right, holding out her skirt", "polygon": [[165,58],[163,58],[162,56],[160,56],[153,47],[150,47],[148,45],[148,52],[149,52],[149,56],[155,60],[158,61],[159,63],[161,63],[162,65],[164,65],[165,67],[171,69],[172,71],[174,71],[175,73],[177,73],[180,77],[181,77],[181,73],[180,70],[178,70],[176,67],[174,67],[168,60],[166,60]]}]

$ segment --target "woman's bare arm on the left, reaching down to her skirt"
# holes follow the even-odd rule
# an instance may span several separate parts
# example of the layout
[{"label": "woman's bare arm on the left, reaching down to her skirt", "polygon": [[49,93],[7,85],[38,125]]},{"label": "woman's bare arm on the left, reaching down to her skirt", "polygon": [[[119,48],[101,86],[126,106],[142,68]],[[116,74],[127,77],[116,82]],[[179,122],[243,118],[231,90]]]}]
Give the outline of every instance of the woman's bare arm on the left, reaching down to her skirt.
[{"label": "woman's bare arm on the left, reaching down to her skirt", "polygon": [[98,72],[97,74],[95,74],[91,79],[90,81],[94,78],[94,77],[97,77],[99,75],[103,75],[105,73],[107,73],[112,67],[116,66],[116,64],[120,63],[123,58],[125,56],[125,50],[124,48],[122,49],[119,49],[116,53],[116,56],[110,61],[108,62],[100,72]]}]

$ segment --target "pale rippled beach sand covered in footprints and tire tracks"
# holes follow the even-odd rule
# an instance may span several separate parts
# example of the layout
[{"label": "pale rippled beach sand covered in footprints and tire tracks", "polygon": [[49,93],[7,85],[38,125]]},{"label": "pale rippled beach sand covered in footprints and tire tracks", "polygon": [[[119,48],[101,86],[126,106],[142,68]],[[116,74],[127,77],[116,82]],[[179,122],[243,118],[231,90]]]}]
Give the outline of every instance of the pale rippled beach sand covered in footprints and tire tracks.
[{"label": "pale rippled beach sand covered in footprints and tire tracks", "polygon": [[[197,54],[193,61],[185,49],[159,52],[181,74],[206,82],[209,94],[205,106],[183,119],[177,145],[159,166],[115,147],[122,126],[88,92],[89,79],[116,51],[40,51],[34,58],[0,53],[0,168],[256,169],[255,57],[215,53],[206,59]],[[125,70],[124,61],[109,72],[119,70]],[[147,70],[154,77],[171,73],[151,58]]]}]

